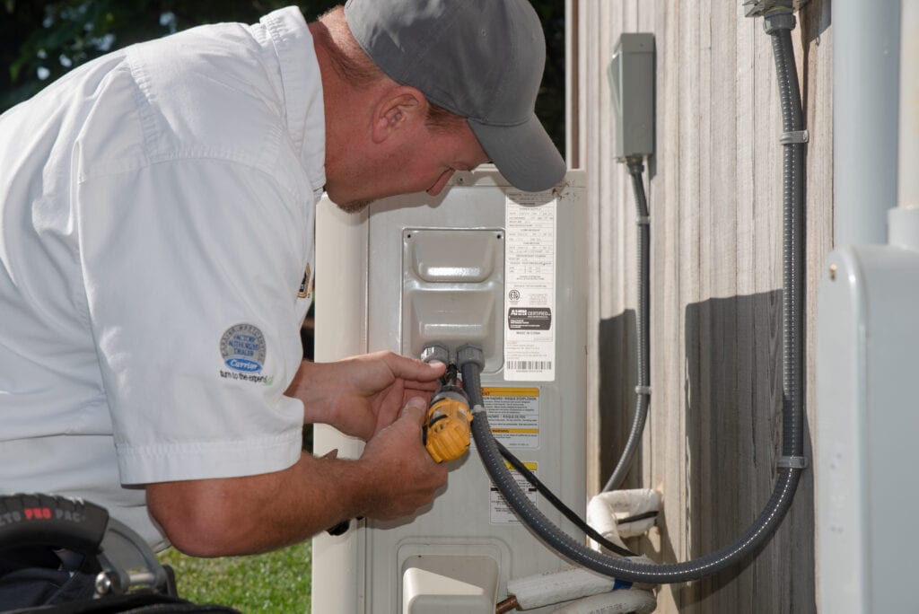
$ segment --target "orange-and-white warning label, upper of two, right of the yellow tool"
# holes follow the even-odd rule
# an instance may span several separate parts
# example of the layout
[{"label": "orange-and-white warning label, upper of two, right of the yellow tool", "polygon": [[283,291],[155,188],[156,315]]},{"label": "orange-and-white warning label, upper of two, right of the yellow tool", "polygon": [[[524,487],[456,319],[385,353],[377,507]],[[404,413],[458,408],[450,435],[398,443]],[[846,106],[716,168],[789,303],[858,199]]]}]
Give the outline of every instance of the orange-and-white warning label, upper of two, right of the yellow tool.
[{"label": "orange-and-white warning label, upper of two, right of the yellow tool", "polygon": [[494,438],[506,448],[539,448],[539,388],[482,388]]}]

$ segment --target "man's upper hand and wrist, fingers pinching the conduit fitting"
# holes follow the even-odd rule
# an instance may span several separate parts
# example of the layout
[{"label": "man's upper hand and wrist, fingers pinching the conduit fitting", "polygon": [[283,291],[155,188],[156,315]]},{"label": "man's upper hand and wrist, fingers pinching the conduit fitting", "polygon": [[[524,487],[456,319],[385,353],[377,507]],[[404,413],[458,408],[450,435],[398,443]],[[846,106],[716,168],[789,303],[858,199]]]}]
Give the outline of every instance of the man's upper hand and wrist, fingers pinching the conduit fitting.
[{"label": "man's upper hand and wrist, fingers pinching the conduit fitting", "polygon": [[322,423],[364,441],[392,424],[414,397],[425,404],[445,366],[392,352],[336,362],[304,362],[287,394],[303,402],[303,422]]}]

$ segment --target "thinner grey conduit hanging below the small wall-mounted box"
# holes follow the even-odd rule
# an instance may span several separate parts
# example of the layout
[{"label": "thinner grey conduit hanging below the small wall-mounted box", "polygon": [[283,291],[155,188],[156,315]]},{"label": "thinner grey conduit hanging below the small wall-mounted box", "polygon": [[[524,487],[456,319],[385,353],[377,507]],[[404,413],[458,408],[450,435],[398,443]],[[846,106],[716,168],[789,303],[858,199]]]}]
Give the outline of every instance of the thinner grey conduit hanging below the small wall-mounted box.
[{"label": "thinner grey conduit hanging below the small wall-mounted box", "polygon": [[628,165],[635,194],[635,224],[638,226],[638,308],[635,312],[638,377],[635,385],[635,416],[632,418],[629,440],[622,449],[616,469],[603,486],[604,491],[616,490],[625,480],[635,458],[635,451],[641,443],[641,433],[648,419],[648,404],[651,402],[651,333],[648,330],[651,316],[651,216],[644,192],[644,165],[641,164],[641,158],[630,158]]}]

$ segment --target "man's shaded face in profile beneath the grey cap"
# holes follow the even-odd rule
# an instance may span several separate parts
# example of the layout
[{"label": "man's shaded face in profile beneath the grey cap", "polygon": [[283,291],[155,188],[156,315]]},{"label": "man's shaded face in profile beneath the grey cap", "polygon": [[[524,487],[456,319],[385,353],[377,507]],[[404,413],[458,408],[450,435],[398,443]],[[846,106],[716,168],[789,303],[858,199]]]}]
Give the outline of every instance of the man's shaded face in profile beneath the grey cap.
[{"label": "man's shaded face in profile beneath the grey cap", "polygon": [[488,156],[466,122],[450,131],[424,131],[412,139],[406,139],[399,147],[377,165],[376,172],[369,172],[366,181],[352,190],[366,191],[366,195],[346,199],[344,202],[330,197],[348,212],[366,208],[377,199],[399,194],[427,192],[437,196],[447,186],[453,173],[458,170],[472,170],[488,162]]}]

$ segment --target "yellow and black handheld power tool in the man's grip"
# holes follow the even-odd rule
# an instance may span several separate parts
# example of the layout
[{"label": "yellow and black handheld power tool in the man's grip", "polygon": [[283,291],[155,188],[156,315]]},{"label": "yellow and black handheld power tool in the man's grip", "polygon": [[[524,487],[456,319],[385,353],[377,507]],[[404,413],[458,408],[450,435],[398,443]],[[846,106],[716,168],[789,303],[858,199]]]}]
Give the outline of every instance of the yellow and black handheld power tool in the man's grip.
[{"label": "yellow and black handheld power tool in the man's grip", "polygon": [[425,417],[425,449],[437,462],[456,460],[469,449],[472,414],[469,397],[457,384],[457,366],[450,364]]}]

